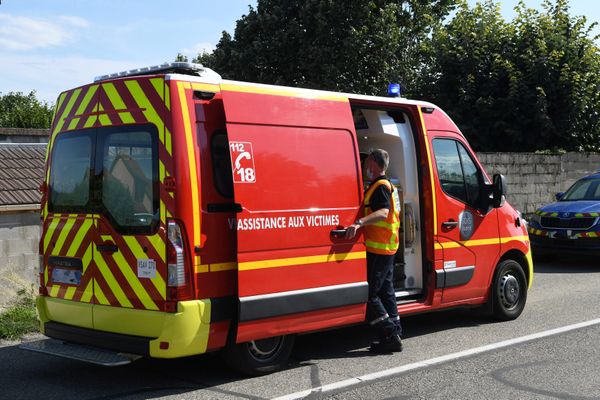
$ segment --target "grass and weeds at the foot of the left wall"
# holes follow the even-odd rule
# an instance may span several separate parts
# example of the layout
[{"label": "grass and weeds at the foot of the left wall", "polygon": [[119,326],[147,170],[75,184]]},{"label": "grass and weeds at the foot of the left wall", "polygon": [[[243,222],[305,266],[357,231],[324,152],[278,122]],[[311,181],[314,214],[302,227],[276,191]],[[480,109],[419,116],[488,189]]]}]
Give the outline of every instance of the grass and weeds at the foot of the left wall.
[{"label": "grass and weeds at the foot of the left wall", "polygon": [[14,340],[38,329],[33,294],[22,289],[14,304],[0,314],[0,338]]}]

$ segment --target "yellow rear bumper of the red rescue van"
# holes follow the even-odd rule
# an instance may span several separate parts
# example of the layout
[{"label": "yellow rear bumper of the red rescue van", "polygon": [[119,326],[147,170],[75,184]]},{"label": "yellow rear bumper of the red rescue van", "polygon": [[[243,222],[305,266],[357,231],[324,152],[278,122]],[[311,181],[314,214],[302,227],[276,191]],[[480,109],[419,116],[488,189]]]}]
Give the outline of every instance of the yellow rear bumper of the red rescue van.
[{"label": "yellow rear bumper of the red rescue van", "polygon": [[92,315],[84,321],[68,312],[74,302],[40,296],[40,329],[68,342],[156,358],[206,352],[210,332],[210,300],[182,301],[176,313],[76,303]]}]

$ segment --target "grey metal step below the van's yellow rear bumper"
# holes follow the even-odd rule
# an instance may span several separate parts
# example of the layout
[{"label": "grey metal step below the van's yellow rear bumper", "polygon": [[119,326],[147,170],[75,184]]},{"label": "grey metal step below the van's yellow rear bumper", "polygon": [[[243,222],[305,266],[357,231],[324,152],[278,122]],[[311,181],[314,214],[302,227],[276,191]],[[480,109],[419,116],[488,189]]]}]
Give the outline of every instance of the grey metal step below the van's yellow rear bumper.
[{"label": "grey metal step below the van's yellow rear bumper", "polygon": [[105,367],[126,365],[141,358],[141,356],[135,354],[117,353],[115,351],[63,342],[56,339],[42,339],[35,342],[23,343],[19,348],[35,351],[37,353],[50,354],[53,356],[70,358],[72,360],[103,365]]}]

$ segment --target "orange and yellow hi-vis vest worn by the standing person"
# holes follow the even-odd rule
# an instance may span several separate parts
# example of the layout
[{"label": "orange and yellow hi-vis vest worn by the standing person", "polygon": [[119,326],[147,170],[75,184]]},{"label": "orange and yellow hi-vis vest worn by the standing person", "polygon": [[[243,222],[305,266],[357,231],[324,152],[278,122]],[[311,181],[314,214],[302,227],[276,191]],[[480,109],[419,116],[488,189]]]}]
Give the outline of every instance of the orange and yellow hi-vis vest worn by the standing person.
[{"label": "orange and yellow hi-vis vest worn by the standing person", "polygon": [[371,214],[371,196],[379,186],[385,185],[392,194],[390,211],[385,220],[376,224],[365,225],[365,245],[367,251],[375,254],[396,254],[399,246],[398,231],[400,229],[400,198],[398,190],[387,179],[379,179],[373,183],[365,194],[365,217]]}]

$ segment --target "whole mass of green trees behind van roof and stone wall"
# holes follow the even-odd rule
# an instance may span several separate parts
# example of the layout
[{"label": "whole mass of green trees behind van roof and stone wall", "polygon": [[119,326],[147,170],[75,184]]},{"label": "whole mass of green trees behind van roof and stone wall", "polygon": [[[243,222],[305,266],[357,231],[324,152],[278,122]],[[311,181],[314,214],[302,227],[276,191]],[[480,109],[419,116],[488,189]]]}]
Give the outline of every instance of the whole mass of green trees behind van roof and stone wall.
[{"label": "whole mass of green trees behind van roof and stone wall", "polygon": [[353,93],[400,82],[478,151],[600,151],[596,24],[568,0],[516,12],[505,21],[495,0],[258,0],[193,61],[228,79]]}]

